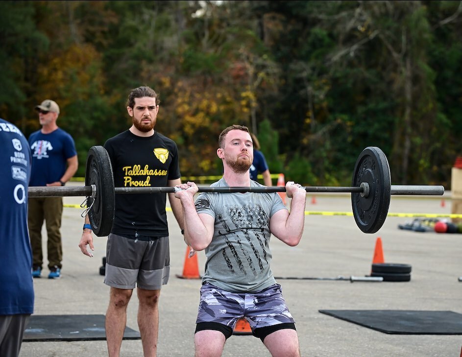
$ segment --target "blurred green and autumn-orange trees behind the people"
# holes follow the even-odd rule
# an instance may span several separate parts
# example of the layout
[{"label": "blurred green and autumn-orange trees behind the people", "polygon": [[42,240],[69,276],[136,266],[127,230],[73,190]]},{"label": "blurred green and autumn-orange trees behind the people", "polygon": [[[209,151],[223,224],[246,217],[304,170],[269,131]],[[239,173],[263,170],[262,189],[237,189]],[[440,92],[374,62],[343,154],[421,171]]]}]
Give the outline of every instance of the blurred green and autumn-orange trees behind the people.
[{"label": "blurred green and autumn-orange trees behind the people", "polygon": [[0,117],[28,137],[55,100],[83,176],[148,85],[183,176],[220,174],[218,135],[238,123],[286,181],[348,186],[378,146],[393,184],[450,189],[461,38],[462,1],[0,1]]}]

